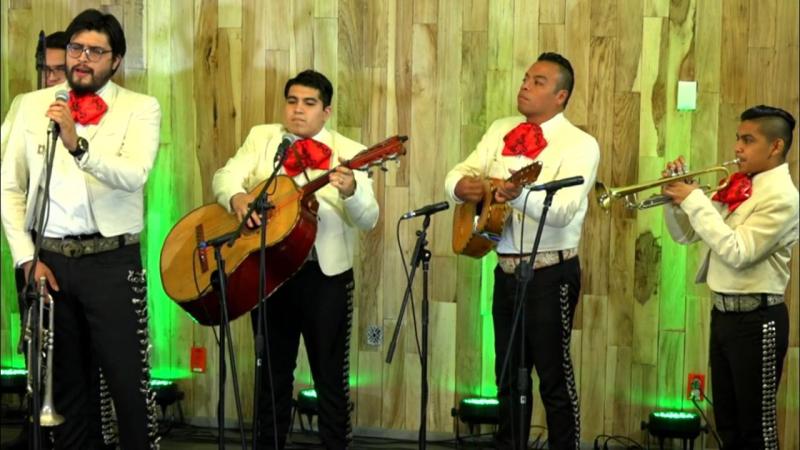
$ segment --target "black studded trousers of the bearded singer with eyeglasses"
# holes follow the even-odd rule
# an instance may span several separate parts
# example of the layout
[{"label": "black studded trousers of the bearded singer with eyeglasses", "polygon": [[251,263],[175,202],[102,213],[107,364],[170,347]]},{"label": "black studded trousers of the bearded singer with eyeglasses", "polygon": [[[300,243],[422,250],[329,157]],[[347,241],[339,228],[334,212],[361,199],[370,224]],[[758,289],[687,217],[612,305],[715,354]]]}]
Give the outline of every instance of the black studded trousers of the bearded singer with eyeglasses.
[{"label": "black studded trousers of the bearded singer with eyeglasses", "polygon": [[[146,282],[139,245],[68,258],[42,251],[60,291],[55,301],[54,397],[65,422],[55,448],[91,449],[96,442],[97,364],[104,387],[103,434],[120,447],[150,449],[157,442],[155,396],[150,391]],[[117,429],[110,422],[111,404]],[[117,435],[118,433],[118,435]]]}]

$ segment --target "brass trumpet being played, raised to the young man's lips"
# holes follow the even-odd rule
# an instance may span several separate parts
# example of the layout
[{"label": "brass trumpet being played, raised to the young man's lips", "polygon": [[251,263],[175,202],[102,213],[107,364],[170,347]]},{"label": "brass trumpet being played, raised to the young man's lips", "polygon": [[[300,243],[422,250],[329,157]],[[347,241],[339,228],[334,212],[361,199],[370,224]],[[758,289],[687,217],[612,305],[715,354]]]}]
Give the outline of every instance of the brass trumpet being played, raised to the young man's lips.
[{"label": "brass trumpet being played, raised to the young man's lips", "polygon": [[709,167],[702,170],[695,170],[693,172],[686,172],[680,174],[672,174],[666,178],[660,178],[658,180],[653,180],[646,183],[634,184],[631,186],[624,186],[624,187],[609,188],[602,182],[598,181],[594,184],[594,195],[595,198],[597,199],[597,204],[605,211],[611,209],[611,202],[613,200],[619,200],[619,199],[625,200],[625,207],[628,209],[647,209],[647,208],[652,208],[654,206],[661,206],[670,203],[672,201],[672,198],[663,194],[653,194],[646,200],[639,201],[639,199],[637,198],[637,194],[641,191],[645,191],[655,187],[660,187],[664,184],[674,183],[676,181],[690,181],[701,175],[719,172],[721,178],[723,179],[722,183],[720,183],[715,188],[711,188],[710,186],[701,187],[701,189],[703,189],[703,192],[705,192],[706,195],[709,195],[720,189],[723,189],[725,186],[728,185],[728,179],[731,173],[726,166],[730,166],[733,164],[739,164],[739,159],[737,158],[731,161],[726,161],[718,166]]}]

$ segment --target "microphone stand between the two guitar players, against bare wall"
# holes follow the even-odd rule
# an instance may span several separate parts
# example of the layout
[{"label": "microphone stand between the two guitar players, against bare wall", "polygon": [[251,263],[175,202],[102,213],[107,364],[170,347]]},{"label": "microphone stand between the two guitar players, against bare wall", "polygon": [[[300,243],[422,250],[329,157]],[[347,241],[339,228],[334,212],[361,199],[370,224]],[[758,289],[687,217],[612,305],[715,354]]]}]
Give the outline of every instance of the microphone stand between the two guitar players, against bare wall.
[{"label": "microphone stand between the two guitar players, against bare wall", "polygon": [[394,327],[394,334],[392,342],[389,344],[389,352],[386,355],[386,363],[390,364],[394,357],[394,351],[397,347],[397,339],[400,335],[400,327],[403,324],[403,316],[408,305],[408,300],[411,297],[412,287],[414,285],[414,275],[416,274],[417,267],[420,261],[422,262],[422,344],[420,348],[420,421],[419,421],[419,448],[425,450],[426,446],[426,433],[428,422],[428,270],[430,268],[431,252],[426,248],[428,244],[427,232],[428,226],[431,223],[431,213],[425,214],[425,219],[422,221],[422,230],[417,231],[417,242],[414,245],[414,253],[411,256],[411,274],[408,277],[408,284],[406,285],[406,292],[403,296],[403,303],[400,306],[400,313],[397,324]]}]

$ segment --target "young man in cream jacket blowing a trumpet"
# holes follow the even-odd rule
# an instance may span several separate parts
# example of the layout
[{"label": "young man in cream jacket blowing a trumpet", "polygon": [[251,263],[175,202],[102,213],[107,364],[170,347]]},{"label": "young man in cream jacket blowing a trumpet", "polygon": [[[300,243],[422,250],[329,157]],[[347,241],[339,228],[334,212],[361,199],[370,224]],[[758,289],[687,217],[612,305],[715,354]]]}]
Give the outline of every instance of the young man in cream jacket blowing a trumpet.
[{"label": "young man in cream jacket blowing a trumpet", "polygon": [[[708,198],[696,183],[666,184],[672,238],[708,248],[697,274],[711,289],[709,359],[723,448],[777,449],[776,394],[788,346],[784,292],[798,241],[798,190],[786,163],[795,119],[770,106],[744,111],[739,171]],[[666,177],[684,169],[682,157]]]}]

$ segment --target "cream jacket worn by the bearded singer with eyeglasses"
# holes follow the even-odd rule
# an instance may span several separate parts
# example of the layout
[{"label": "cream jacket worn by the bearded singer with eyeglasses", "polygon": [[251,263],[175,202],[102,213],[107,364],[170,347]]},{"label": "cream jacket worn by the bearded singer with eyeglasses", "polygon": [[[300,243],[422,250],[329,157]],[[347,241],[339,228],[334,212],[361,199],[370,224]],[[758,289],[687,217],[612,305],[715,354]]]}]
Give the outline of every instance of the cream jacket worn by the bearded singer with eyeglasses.
[{"label": "cream jacket worn by the bearded singer with eyeglasses", "polygon": [[[22,95],[3,149],[0,213],[16,265],[33,255],[30,230],[44,184],[45,111],[56,92],[66,89],[60,84]],[[56,158],[71,159],[83,170],[92,214],[104,236],[137,233],[144,224],[143,189],[158,151],[161,110],[153,97],[113,82],[105,89],[108,111],[100,123],[79,132],[89,141],[89,152],[77,162],[59,139]],[[53,176],[58,176],[55,170]]]}]

